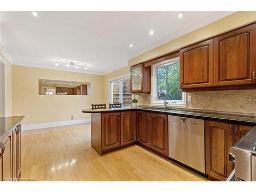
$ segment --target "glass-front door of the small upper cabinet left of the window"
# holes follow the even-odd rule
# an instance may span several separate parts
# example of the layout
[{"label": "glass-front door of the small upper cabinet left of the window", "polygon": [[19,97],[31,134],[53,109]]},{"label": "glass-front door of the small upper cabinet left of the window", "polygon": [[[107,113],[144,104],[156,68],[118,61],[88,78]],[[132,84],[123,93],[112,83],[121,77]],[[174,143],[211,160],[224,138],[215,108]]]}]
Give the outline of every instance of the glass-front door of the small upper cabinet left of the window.
[{"label": "glass-front door of the small upper cabinet left of the window", "polygon": [[142,64],[131,68],[131,91],[142,90]]}]

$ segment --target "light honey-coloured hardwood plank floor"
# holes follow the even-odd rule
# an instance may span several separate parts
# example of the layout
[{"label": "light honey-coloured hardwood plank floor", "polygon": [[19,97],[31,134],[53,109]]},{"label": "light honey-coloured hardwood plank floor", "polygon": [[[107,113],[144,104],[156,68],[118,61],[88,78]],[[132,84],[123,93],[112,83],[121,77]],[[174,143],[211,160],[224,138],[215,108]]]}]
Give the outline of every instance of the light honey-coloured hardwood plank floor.
[{"label": "light honey-coloured hardwood plank floor", "polygon": [[21,181],[206,181],[172,161],[133,145],[100,157],[91,124],[22,132]]}]

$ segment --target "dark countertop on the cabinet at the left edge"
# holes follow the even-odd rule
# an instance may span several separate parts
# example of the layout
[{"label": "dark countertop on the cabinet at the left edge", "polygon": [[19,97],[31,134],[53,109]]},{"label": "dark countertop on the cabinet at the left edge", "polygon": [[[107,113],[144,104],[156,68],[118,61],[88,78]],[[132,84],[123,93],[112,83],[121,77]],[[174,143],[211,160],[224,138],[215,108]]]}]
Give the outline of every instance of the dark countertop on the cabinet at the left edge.
[{"label": "dark countertop on the cabinet at the left edge", "polygon": [[24,119],[24,116],[0,117],[0,137]]}]

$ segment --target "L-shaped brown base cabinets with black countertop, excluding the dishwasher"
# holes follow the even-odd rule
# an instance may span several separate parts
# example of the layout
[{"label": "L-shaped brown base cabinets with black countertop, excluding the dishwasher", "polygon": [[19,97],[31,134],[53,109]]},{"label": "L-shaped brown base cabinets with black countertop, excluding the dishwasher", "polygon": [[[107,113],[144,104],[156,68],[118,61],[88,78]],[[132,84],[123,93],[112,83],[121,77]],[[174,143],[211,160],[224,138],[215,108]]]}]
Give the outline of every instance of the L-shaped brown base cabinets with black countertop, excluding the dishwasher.
[{"label": "L-shaped brown base cabinets with black countertop, excluding the dishwasher", "polygon": [[[228,151],[248,131],[256,126],[256,118],[218,113],[181,111],[161,108],[114,108],[82,110],[91,114],[91,146],[99,154],[139,144],[162,157],[173,160],[168,154],[168,116],[181,120],[205,120],[205,174],[211,180],[226,180],[233,170]],[[222,139],[221,139],[222,138]],[[214,162],[219,154],[217,169]],[[194,169],[193,169],[194,170]]]}]

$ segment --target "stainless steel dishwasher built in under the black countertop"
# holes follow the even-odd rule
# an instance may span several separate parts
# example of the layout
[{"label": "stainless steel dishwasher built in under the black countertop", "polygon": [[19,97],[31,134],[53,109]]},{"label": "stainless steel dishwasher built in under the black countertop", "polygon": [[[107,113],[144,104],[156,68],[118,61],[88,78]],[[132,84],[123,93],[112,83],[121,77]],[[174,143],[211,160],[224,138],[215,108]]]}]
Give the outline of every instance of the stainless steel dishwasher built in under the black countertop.
[{"label": "stainless steel dishwasher built in under the black countertop", "polygon": [[205,173],[204,120],[168,116],[169,157]]}]

